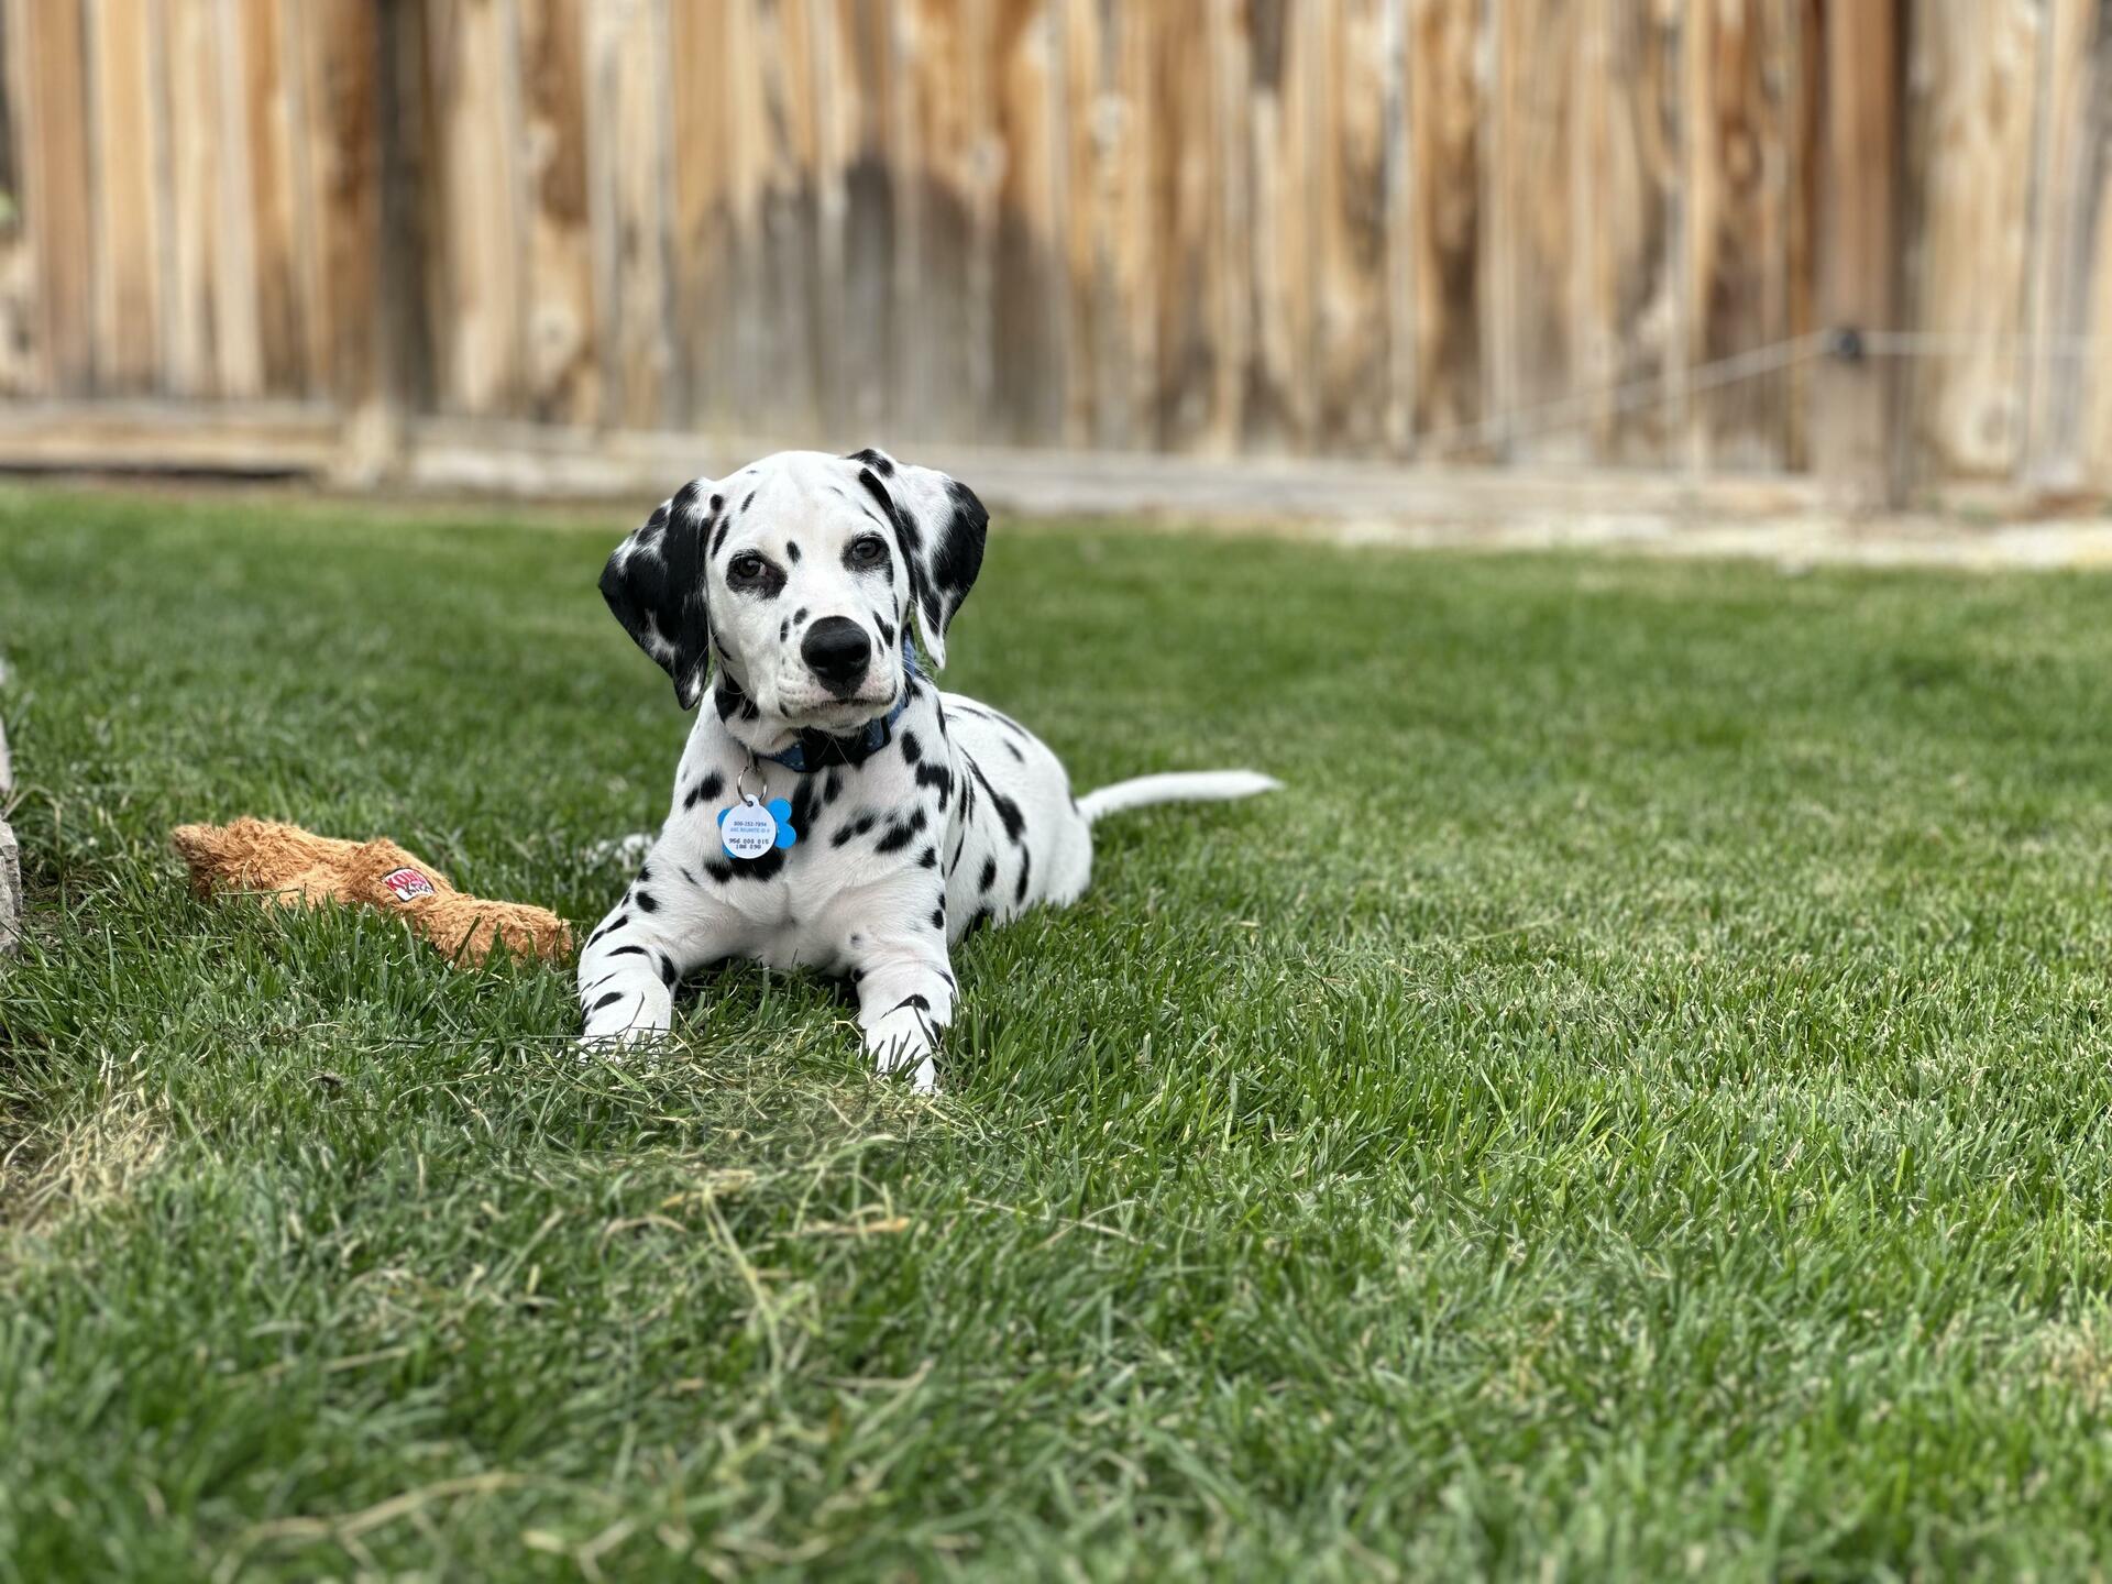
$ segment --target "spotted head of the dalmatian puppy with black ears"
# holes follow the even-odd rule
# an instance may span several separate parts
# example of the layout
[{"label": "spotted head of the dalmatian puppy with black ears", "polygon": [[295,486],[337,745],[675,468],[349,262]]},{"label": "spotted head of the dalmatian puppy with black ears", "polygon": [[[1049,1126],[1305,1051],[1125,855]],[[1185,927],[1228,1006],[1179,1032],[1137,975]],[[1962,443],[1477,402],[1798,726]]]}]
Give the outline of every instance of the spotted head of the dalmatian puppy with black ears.
[{"label": "spotted head of the dalmatian puppy with black ears", "polygon": [[946,663],[986,528],[976,494],[927,467],[777,452],[663,501],[608,558],[602,598],[684,710],[716,653],[765,718],[847,733],[900,697],[912,610]]}]

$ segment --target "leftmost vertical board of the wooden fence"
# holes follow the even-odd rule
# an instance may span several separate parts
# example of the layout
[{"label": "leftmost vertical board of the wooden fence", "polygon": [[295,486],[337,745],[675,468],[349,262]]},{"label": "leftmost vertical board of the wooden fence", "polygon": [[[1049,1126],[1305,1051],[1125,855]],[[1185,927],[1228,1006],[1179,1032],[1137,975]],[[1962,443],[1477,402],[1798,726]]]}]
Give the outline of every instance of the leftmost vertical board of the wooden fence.
[{"label": "leftmost vertical board of the wooden fence", "polygon": [[11,0],[8,55],[23,106],[17,163],[36,260],[38,384],[49,395],[87,395],[95,382],[97,289],[78,0]]}]

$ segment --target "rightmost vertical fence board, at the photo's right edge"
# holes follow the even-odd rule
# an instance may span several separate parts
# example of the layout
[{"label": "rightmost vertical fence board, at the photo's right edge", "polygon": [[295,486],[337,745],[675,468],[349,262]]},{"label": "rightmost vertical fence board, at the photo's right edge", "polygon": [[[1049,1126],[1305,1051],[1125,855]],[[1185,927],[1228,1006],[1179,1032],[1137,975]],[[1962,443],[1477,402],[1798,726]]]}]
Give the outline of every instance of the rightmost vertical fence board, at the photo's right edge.
[{"label": "rightmost vertical fence board, at the photo's right edge", "polygon": [[2025,479],[2112,488],[2112,0],[2051,0],[2040,76]]}]

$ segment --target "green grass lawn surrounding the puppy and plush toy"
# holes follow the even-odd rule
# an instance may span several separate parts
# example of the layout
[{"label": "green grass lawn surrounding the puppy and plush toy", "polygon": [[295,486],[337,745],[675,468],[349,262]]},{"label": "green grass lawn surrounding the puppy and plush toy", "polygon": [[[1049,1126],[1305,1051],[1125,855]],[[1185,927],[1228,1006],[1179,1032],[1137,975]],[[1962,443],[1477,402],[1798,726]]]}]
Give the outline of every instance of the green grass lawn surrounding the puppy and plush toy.
[{"label": "green grass lawn surrounding the puppy and plush toy", "polygon": [[1290,790],[967,942],[934,1102],[188,895],[260,813],[593,921],[627,526],[0,494],[0,1580],[2112,1565],[2112,581],[999,524],[953,686]]}]

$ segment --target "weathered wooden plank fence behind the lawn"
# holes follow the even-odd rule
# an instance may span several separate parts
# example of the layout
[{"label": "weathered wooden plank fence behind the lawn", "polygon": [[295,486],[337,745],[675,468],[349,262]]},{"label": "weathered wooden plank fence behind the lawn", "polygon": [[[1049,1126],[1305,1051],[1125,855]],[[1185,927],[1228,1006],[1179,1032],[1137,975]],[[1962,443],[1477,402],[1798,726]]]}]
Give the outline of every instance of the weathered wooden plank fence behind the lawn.
[{"label": "weathered wooden plank fence behind the lawn", "polygon": [[2112,0],[0,0],[0,57],[19,422],[2112,486]]}]

